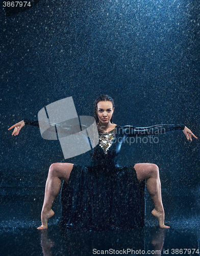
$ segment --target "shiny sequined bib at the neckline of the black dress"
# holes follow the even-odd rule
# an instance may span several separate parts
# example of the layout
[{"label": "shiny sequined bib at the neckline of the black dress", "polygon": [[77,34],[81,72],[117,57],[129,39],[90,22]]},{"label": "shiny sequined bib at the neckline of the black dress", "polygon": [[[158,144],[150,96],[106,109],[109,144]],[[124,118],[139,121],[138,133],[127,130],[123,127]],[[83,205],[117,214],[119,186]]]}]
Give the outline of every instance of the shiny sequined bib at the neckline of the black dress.
[{"label": "shiny sequined bib at the neckline of the black dress", "polygon": [[116,127],[110,132],[98,132],[99,146],[104,150],[105,154],[108,154],[108,150],[115,139]]}]

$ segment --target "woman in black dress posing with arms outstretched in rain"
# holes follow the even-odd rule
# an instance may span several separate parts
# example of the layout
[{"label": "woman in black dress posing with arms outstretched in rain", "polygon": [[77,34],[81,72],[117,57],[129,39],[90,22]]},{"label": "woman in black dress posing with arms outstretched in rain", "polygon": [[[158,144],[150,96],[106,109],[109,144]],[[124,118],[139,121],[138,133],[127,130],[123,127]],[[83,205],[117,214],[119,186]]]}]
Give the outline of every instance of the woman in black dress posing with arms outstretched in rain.
[{"label": "woman in black dress posing with arms outstretched in rain", "polygon": [[[114,209],[115,213],[113,218],[118,221],[119,219],[123,218],[123,216],[120,216],[118,212],[118,207],[124,205],[123,208],[129,208],[129,205],[134,204],[132,198],[134,197],[134,194],[133,191],[130,190],[130,187],[133,186],[134,183],[136,186],[139,186],[140,182],[146,179],[146,188],[153,200],[155,207],[152,214],[158,219],[159,226],[161,228],[169,228],[169,226],[164,224],[164,208],[161,198],[161,183],[158,166],[153,163],[136,163],[132,166],[119,167],[116,165],[116,157],[120,151],[123,141],[128,137],[160,134],[173,130],[182,130],[186,138],[190,141],[192,141],[192,136],[196,139],[197,137],[185,125],[182,124],[154,125],[151,127],[122,127],[113,123],[113,112],[114,101],[110,96],[101,95],[95,100],[94,118],[97,124],[99,143],[93,149],[90,166],[80,166],[72,163],[53,163],[49,167],[45,186],[44,202],[41,211],[42,225],[38,227],[38,229],[46,229],[48,219],[54,215],[52,205],[56,196],[59,194],[61,179],[70,184],[71,191],[68,193],[68,196],[72,199],[70,199],[70,202],[68,203],[72,209],[71,212],[73,211],[73,207],[75,207],[74,209],[76,210],[73,212],[76,211],[76,216],[79,215],[80,217],[81,215],[87,215],[89,209],[92,212],[91,221],[95,219],[95,210],[93,209],[94,200],[92,198],[94,196],[91,196],[91,193],[95,194],[95,189],[97,189],[95,187],[101,186],[101,182],[105,182],[103,180],[106,180],[106,186],[108,185],[108,181],[108,186],[113,186],[111,187],[111,190],[115,191],[113,192],[109,190],[109,194],[104,194],[105,186],[103,185],[101,188],[102,190],[100,190],[102,192],[100,192],[97,197],[100,197],[102,193],[106,195],[103,201],[105,200],[105,207],[107,208],[103,211],[101,211],[102,209],[99,209],[98,206],[97,208],[99,211],[103,212],[103,215],[107,210],[113,212]],[[12,135],[16,136],[19,134],[21,128],[26,124],[39,126],[38,121],[29,121],[24,119],[11,126],[8,130],[14,128]],[[77,186],[80,186],[81,188],[75,193],[74,191],[77,190]],[[123,191],[123,193],[121,193],[121,191]],[[80,193],[82,194],[81,196]],[[128,193],[128,195],[121,195],[126,193]],[[88,198],[86,197],[91,198],[88,201]],[[118,201],[113,199],[116,197],[118,198]],[[97,199],[96,202],[97,205],[99,205],[99,199]],[[115,204],[114,206],[112,206],[113,202]],[[121,205],[116,205],[118,204],[116,202],[120,202]],[[82,205],[82,208],[79,208],[79,205]],[[100,208],[102,208],[103,204],[100,205]],[[121,212],[124,212],[123,209]],[[129,211],[129,215],[130,212],[131,211]],[[131,218],[131,216],[126,218]],[[86,219],[88,221],[88,218]],[[81,220],[83,221],[83,219]]]}]

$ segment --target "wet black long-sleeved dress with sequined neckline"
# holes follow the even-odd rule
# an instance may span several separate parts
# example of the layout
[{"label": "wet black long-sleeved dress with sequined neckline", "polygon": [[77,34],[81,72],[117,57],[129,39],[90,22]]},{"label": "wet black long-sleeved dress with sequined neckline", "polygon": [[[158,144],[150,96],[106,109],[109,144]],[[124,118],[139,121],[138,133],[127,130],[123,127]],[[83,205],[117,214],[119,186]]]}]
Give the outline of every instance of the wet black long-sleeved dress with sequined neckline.
[{"label": "wet black long-sleeved dress with sequined neckline", "polygon": [[[38,126],[27,119],[26,124]],[[74,164],[69,183],[63,183],[60,225],[98,230],[144,226],[145,181],[138,182],[135,164],[118,166],[116,157],[122,143],[130,143],[132,137],[139,140],[138,136],[184,130],[184,127],[182,124],[117,125],[110,132],[98,132],[99,143],[92,151],[91,165]]]}]

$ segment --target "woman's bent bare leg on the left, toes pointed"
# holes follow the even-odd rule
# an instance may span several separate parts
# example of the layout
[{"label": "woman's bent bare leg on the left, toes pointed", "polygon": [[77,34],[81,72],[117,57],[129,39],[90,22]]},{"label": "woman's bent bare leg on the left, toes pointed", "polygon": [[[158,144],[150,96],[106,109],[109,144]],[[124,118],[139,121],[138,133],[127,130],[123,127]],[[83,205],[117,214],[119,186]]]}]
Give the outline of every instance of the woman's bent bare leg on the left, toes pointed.
[{"label": "woman's bent bare leg on the left, toes pointed", "polygon": [[45,186],[44,202],[41,211],[42,225],[37,229],[47,228],[48,219],[54,215],[52,204],[60,191],[61,179],[68,183],[72,167],[72,163],[53,163],[49,167]]}]

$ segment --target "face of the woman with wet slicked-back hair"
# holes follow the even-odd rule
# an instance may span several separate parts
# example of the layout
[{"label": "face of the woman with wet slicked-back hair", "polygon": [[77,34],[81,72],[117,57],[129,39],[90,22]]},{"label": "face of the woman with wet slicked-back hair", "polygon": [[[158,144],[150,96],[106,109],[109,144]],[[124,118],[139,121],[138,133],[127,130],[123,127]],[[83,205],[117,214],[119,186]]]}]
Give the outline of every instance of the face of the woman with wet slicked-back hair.
[{"label": "face of the woman with wet slicked-back hair", "polygon": [[99,101],[97,103],[97,115],[99,123],[107,124],[112,118],[114,108],[111,101]]}]

